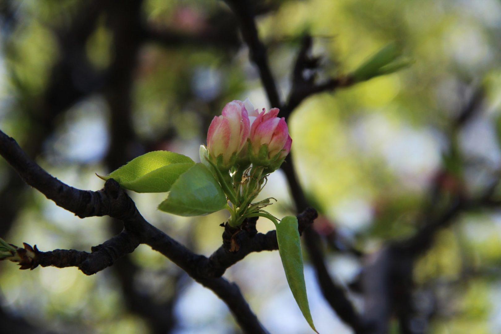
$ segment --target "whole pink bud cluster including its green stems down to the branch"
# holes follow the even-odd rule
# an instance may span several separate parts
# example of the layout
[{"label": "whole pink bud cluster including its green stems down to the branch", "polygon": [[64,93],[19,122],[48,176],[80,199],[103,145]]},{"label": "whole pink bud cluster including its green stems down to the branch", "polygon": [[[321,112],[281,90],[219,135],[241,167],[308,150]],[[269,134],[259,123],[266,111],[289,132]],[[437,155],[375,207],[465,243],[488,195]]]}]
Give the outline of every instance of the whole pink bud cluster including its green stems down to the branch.
[{"label": "whole pink bud cluster including its green stems down to the branch", "polygon": [[227,206],[231,226],[239,226],[246,217],[272,217],[263,210],[272,198],[253,201],[265,186],[267,175],[277,170],[291,151],[289,129],[278,113],[277,108],[259,112],[248,99],[235,100],[210,123],[207,147],[202,145],[200,159],[212,167],[231,203]]}]

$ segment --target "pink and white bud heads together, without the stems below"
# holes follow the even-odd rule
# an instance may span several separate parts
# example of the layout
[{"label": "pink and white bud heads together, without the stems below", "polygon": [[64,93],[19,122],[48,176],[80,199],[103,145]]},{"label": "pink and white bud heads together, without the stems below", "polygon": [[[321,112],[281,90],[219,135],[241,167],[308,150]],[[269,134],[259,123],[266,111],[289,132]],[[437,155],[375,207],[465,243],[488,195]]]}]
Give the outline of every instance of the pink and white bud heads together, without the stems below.
[{"label": "pink and white bud heads together, without the stems below", "polygon": [[231,167],[280,167],[291,151],[292,139],[285,119],[277,117],[279,109],[260,113],[252,103],[232,101],[215,116],[207,133],[209,159],[220,170]]}]

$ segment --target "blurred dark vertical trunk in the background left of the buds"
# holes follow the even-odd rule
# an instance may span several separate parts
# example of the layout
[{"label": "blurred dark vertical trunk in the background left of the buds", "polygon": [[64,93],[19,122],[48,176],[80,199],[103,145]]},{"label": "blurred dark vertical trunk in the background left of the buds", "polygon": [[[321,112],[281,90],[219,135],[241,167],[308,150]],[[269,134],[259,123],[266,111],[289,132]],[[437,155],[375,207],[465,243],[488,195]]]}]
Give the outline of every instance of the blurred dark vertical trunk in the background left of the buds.
[{"label": "blurred dark vertical trunk in the background left of the buds", "polygon": [[[121,6],[110,3],[110,6],[106,7],[107,23],[113,34],[111,48],[115,55],[106,71],[108,80],[102,90],[111,114],[110,145],[105,158],[109,170],[115,170],[124,165],[138,154],[137,151],[140,151],[136,149],[138,140],[131,114],[132,87],[139,63],[138,54],[147,38],[146,32],[143,31],[141,6],[142,1],[135,0],[123,3]],[[109,220],[109,227],[113,234],[123,233],[123,231],[120,232],[121,225],[116,219]],[[138,240],[136,242],[139,243]],[[129,252],[135,249],[136,242],[131,242]],[[117,254],[117,252],[105,254],[108,253]],[[170,332],[175,326],[172,311],[177,294],[173,293],[172,298],[161,303],[155,302],[154,298],[142,293],[134,282],[140,267],[132,261],[130,256],[125,255],[116,262],[115,259],[118,259],[118,256],[115,257],[109,256],[108,261],[110,265],[114,264],[112,270],[120,283],[124,304],[129,310],[148,320],[152,333]],[[89,262],[93,263],[93,261]]]}]

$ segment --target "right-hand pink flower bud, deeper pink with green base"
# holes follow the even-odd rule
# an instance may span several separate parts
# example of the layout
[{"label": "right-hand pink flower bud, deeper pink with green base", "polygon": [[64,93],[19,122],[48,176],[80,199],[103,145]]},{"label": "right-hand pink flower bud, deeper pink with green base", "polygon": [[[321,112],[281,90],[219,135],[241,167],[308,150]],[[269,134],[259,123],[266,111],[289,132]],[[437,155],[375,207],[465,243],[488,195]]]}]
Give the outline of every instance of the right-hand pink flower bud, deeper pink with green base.
[{"label": "right-hand pink flower bud, deeper pink with green base", "polygon": [[283,161],[291,151],[292,139],[287,123],[285,118],[277,117],[278,113],[278,108],[269,113],[263,109],[250,127],[252,149],[249,155],[254,165],[268,166],[275,161]]}]

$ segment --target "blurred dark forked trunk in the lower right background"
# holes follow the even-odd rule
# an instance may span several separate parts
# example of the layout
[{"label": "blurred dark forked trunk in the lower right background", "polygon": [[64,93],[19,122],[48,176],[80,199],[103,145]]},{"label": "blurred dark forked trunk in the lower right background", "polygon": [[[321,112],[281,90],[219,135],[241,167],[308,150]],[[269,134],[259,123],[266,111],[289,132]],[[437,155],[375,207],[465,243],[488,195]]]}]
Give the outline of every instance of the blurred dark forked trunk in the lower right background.
[{"label": "blurred dark forked trunk in the lower right background", "polygon": [[[478,88],[451,122],[447,154],[459,162],[460,154],[455,144],[457,133],[481,112],[482,101],[483,90]],[[440,182],[440,178],[435,178],[431,184],[428,205],[423,206],[418,216],[416,225],[421,226],[418,231],[404,240],[390,242],[373,254],[364,268],[362,276],[367,305],[365,316],[374,326],[374,333],[388,331],[388,321],[393,312],[399,316],[402,332],[410,332],[413,268],[416,259],[432,247],[437,232],[457,221],[461,213],[478,208],[492,208],[499,204],[492,197],[499,183],[499,173],[495,181],[475,198],[468,198],[462,189],[457,189],[454,198],[441,210],[437,209],[443,195]]]}]

